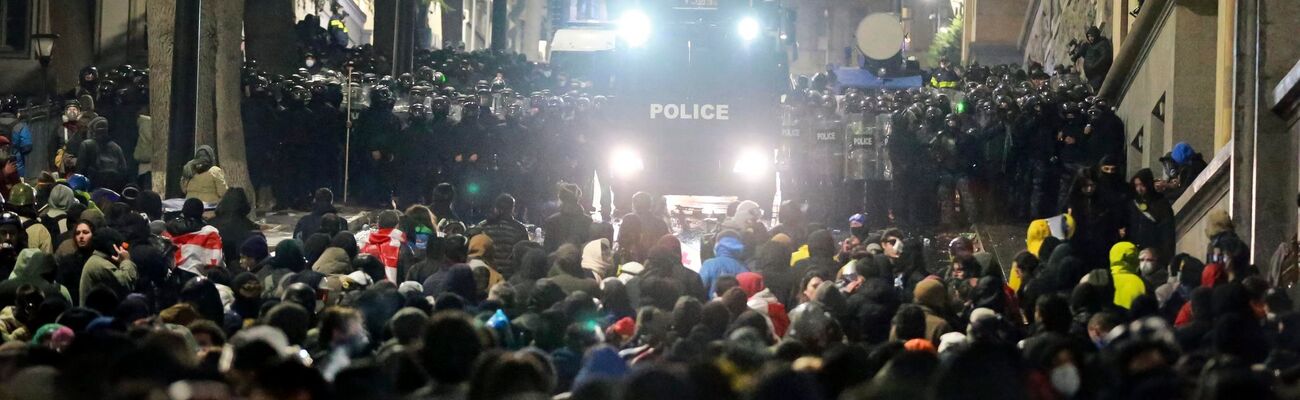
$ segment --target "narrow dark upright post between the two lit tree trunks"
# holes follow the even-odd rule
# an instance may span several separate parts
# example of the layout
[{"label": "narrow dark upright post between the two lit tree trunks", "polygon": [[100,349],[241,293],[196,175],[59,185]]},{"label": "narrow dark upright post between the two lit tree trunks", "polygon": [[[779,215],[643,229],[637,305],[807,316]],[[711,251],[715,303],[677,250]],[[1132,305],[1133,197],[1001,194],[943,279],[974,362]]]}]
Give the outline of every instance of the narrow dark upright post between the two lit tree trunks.
[{"label": "narrow dark upright post between the two lit tree trunks", "polygon": [[[195,116],[195,132],[194,132],[194,148],[199,145],[217,145],[217,116],[213,113],[216,106],[216,73],[217,73],[217,25],[221,22],[217,8],[222,3],[230,3],[235,0],[203,0],[200,4],[200,17],[199,17],[199,82],[198,92],[195,94],[195,108],[199,113]],[[224,60],[220,62],[225,62]],[[220,153],[220,152],[218,152]]]}]

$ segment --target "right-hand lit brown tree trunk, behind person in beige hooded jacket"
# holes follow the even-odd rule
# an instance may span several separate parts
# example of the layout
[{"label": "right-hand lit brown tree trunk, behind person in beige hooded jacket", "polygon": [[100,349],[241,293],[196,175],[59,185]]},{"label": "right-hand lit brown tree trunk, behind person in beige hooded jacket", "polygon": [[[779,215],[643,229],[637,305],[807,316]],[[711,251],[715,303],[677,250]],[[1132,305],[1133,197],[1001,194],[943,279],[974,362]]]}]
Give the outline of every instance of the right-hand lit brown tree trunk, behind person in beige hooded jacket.
[{"label": "right-hand lit brown tree trunk, behind person in beige hooded jacket", "polygon": [[[240,48],[243,32],[244,0],[220,0],[217,14],[217,45],[216,45],[216,140],[217,158],[221,169],[226,173],[226,183],[230,187],[242,187],[248,195],[248,203],[257,204],[257,190],[252,187],[248,178],[248,158],[244,155],[243,116],[240,114],[239,91],[240,69],[243,68],[243,51]],[[266,151],[266,149],[260,149]]]}]

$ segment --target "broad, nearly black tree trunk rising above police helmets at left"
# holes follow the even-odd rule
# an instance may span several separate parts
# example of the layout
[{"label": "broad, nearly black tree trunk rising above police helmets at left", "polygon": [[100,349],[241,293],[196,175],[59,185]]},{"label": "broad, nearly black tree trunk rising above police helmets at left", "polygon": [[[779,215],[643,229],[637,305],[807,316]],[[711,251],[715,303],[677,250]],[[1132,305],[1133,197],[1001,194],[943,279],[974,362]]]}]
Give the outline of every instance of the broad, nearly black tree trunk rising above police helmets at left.
[{"label": "broad, nearly black tree trunk rising above police helmets at left", "polygon": [[244,9],[244,40],[250,60],[269,74],[290,74],[299,64],[294,31],[294,1],[256,1]]}]

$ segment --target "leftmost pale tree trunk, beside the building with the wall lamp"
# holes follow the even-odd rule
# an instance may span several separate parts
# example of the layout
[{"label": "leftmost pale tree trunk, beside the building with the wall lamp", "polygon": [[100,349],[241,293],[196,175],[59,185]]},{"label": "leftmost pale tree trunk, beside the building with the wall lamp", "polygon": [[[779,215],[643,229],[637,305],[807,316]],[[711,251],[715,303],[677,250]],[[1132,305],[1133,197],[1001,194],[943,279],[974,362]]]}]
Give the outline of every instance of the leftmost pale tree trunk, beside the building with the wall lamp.
[{"label": "leftmost pale tree trunk, beside the building with the wall lamp", "polygon": [[150,117],[153,119],[153,191],[166,192],[168,131],[172,119],[172,52],[176,47],[176,1],[148,0]]}]

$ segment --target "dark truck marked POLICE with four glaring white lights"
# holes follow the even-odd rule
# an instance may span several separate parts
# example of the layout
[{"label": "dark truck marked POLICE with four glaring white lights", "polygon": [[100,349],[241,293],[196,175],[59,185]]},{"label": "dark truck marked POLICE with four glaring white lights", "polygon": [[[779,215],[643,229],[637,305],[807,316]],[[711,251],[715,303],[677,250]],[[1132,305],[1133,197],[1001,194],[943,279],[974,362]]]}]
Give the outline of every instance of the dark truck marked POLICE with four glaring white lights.
[{"label": "dark truck marked POLICE with four glaring white lights", "polygon": [[603,23],[559,29],[549,53],[610,99],[593,130],[610,151],[597,175],[615,206],[634,191],[770,204],[789,91],[784,12],[770,1],[620,6]]}]

